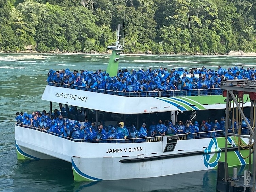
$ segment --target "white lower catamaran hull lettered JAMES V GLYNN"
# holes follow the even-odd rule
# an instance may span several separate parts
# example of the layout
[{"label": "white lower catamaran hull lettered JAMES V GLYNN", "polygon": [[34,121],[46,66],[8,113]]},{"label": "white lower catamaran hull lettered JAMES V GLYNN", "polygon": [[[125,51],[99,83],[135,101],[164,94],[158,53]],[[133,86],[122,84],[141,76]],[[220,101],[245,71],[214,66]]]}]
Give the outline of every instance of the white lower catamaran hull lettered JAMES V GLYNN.
[{"label": "white lower catamaran hull lettered JAMES V GLYNN", "polygon": [[[75,181],[119,180],[173,175],[217,168],[224,161],[225,138],[181,140],[168,145],[144,143],[74,142],[37,130],[15,126],[18,159],[59,158],[72,163]],[[234,143],[229,137],[228,144]],[[247,140],[244,140],[247,142]],[[248,164],[249,151],[229,148],[229,166]],[[22,158],[21,158],[22,157]],[[24,158],[25,157],[25,158]]]}]

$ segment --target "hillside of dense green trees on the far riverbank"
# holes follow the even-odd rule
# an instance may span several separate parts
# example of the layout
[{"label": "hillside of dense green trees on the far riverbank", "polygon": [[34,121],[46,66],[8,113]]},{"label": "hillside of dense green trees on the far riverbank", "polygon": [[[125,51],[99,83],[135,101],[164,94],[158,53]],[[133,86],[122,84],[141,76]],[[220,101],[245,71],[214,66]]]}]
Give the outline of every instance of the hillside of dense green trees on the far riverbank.
[{"label": "hillside of dense green trees on the far riverbank", "polygon": [[0,0],[0,51],[256,51],[255,0]]}]

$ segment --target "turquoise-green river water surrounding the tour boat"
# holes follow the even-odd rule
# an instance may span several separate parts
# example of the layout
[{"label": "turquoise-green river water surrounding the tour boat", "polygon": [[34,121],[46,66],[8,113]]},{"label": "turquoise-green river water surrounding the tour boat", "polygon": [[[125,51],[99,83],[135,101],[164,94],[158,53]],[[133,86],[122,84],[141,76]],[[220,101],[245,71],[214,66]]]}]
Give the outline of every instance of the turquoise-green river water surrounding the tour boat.
[{"label": "turquoise-green river water surrounding the tour boat", "polygon": [[[216,170],[101,182],[74,182],[71,163],[18,161],[15,113],[49,110],[41,100],[49,69],[106,70],[110,55],[0,53],[0,191],[215,191]],[[119,69],[255,67],[256,57],[121,55]],[[188,162],[189,163],[189,162]],[[173,165],[172,165],[173,166]],[[174,165],[175,166],[175,165]],[[182,165],[181,166],[182,169]],[[193,166],[193,165],[191,165]],[[150,170],[149,170],[150,171]]]}]

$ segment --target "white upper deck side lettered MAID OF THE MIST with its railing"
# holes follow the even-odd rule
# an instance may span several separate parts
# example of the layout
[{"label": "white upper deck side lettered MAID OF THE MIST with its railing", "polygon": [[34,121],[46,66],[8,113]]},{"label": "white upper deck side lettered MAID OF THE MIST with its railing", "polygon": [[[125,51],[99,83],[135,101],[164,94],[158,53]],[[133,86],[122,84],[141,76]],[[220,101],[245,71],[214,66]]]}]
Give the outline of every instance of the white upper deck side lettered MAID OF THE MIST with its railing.
[{"label": "white upper deck side lettered MAID OF THE MIST with its railing", "polygon": [[[224,109],[217,89],[117,92],[48,82],[42,100],[119,114]],[[218,89],[219,93],[222,91]],[[250,104],[250,103],[249,103]],[[246,106],[246,104],[245,104]]]}]

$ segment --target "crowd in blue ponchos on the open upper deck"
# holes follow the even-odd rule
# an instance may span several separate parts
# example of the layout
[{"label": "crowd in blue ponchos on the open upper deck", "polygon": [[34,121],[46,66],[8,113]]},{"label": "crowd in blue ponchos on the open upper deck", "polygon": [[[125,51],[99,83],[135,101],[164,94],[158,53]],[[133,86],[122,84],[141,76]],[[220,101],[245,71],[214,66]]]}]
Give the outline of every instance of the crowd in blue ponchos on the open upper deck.
[{"label": "crowd in blue ponchos on the open upper deck", "polygon": [[[115,77],[110,77],[106,71],[101,69],[93,72],[81,70],[80,72],[69,69],[54,71],[49,70],[47,81],[53,85],[66,84],[67,86],[82,86],[87,88],[112,90],[119,92],[158,92],[171,90],[189,90],[179,94],[198,95],[198,89],[202,89],[200,95],[220,95],[221,80],[244,79],[255,80],[255,68],[244,69],[241,67],[222,68],[218,70],[175,68],[168,70],[166,67],[152,70],[151,68],[139,69],[138,71],[127,69],[117,71]],[[209,92],[208,89],[212,89]],[[178,94],[178,93],[177,93]]]}]

